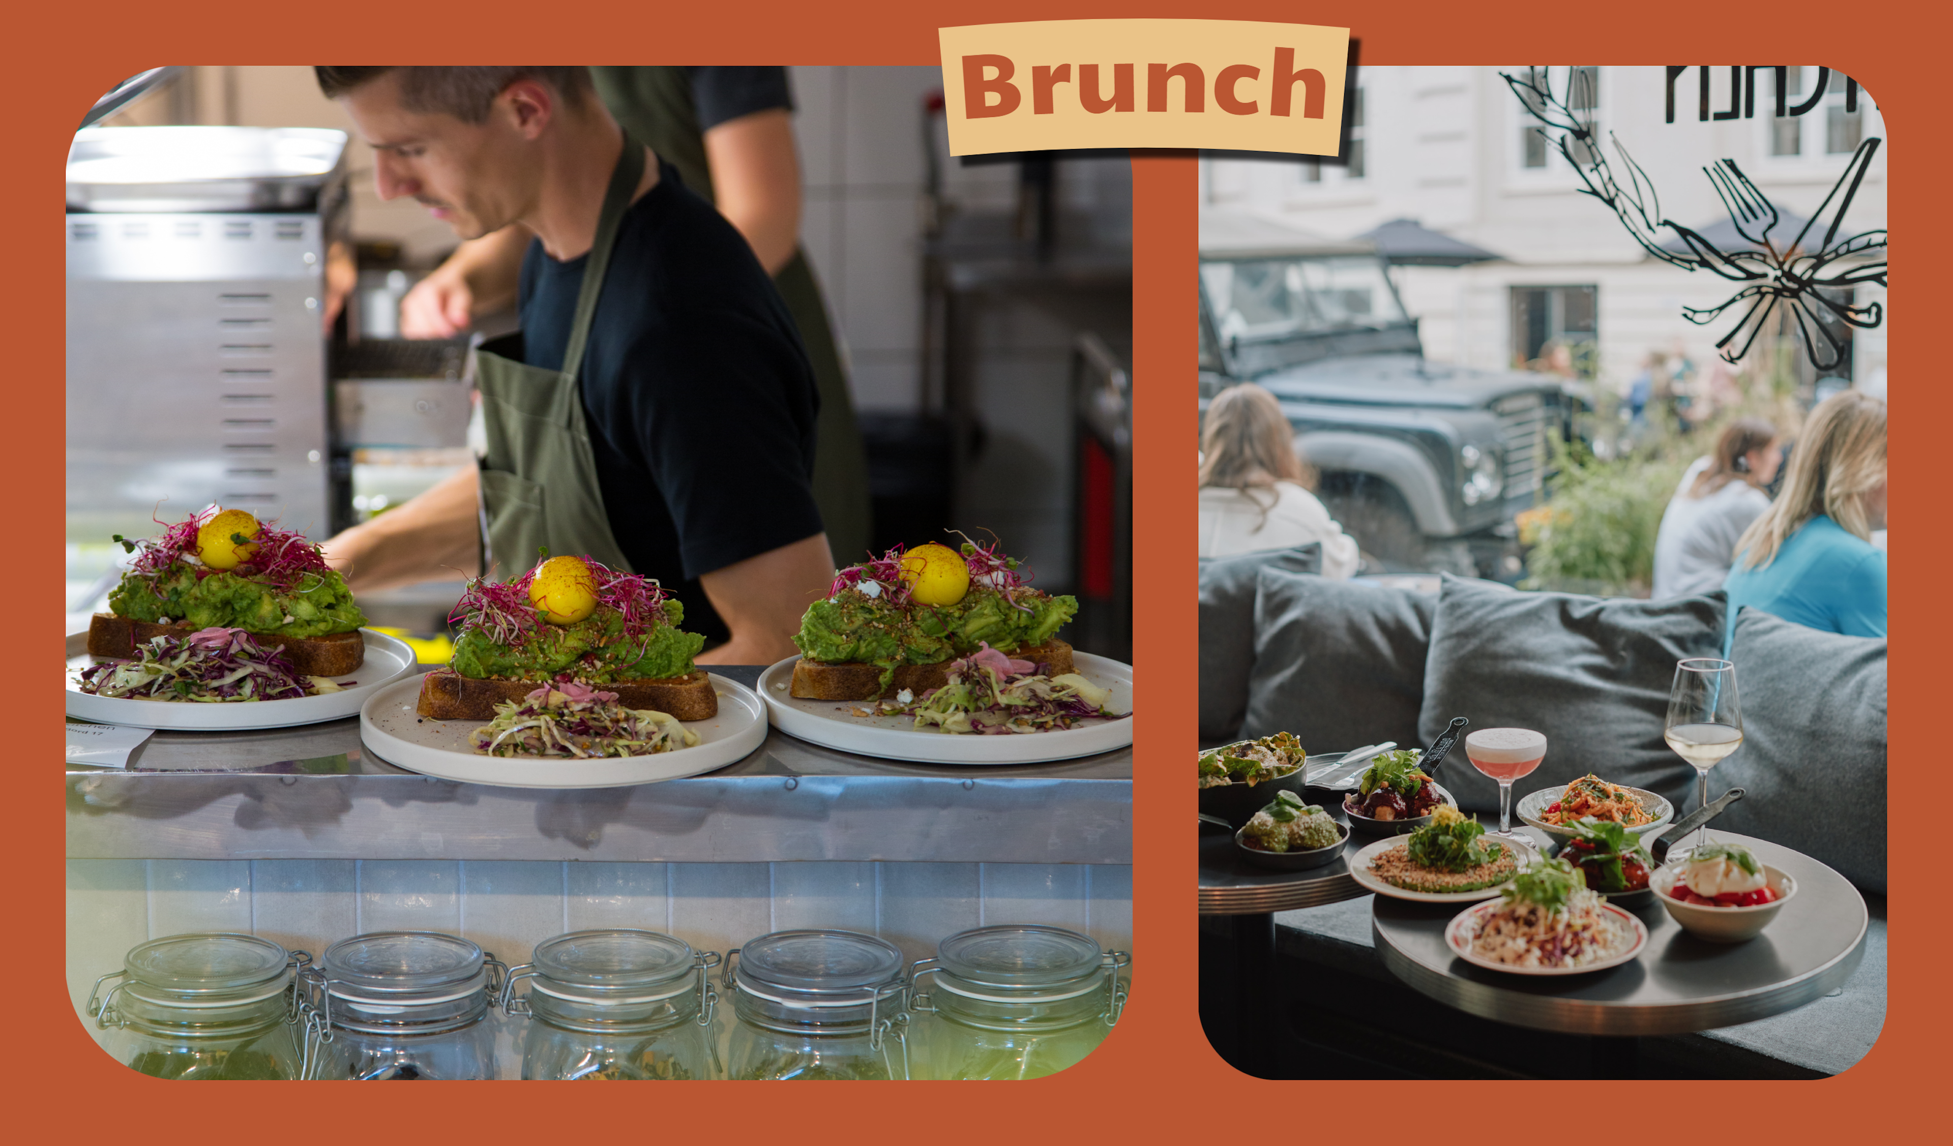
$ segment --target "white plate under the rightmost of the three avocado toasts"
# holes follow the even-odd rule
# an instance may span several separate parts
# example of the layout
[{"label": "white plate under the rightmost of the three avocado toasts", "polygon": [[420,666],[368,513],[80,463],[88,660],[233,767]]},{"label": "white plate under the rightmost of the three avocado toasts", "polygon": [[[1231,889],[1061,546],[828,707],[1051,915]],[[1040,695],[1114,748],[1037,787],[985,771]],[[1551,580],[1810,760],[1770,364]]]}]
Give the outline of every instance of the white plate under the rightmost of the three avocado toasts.
[{"label": "white plate under the rightmost of the three avocado toasts", "polygon": [[[914,716],[853,716],[869,701],[801,701],[787,695],[793,664],[787,660],[760,674],[760,695],[781,732],[822,748],[859,752],[918,763],[1047,763],[1111,752],[1133,744],[1133,718],[1094,720],[1084,728],[976,736],[969,732],[916,730]],[[1113,713],[1133,711],[1133,666],[1090,652],[1074,652],[1072,666],[1088,681],[1111,689]]]}]

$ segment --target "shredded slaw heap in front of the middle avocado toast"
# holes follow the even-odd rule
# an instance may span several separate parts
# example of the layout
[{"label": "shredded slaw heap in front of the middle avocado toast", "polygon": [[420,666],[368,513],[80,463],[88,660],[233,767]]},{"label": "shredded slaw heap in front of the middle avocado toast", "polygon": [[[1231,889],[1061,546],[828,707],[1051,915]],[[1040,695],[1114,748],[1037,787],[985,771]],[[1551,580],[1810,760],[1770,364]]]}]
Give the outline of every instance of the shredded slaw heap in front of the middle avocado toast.
[{"label": "shredded slaw heap in front of the middle avocado toast", "polygon": [[484,756],[543,756],[598,759],[607,756],[650,756],[678,752],[699,742],[699,734],[668,713],[627,709],[617,693],[584,681],[557,677],[519,701],[502,701],[494,720],[469,732],[469,744]]}]

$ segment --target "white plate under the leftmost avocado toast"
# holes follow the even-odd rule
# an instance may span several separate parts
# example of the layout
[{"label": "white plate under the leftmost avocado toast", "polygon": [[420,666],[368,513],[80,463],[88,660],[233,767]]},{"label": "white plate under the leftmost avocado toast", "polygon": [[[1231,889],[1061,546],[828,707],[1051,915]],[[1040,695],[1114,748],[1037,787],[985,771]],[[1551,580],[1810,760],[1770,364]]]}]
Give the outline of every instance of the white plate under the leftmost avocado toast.
[{"label": "white plate under the leftmost avocado toast", "polygon": [[367,650],[365,662],[346,675],[328,677],[334,681],[359,681],[357,687],[322,697],[295,697],[291,701],[236,701],[236,703],[191,703],[191,701],[131,701],[127,697],[98,697],[82,691],[78,670],[88,668],[96,658],[88,656],[88,634],[68,634],[68,715],[98,724],[127,724],[131,728],[174,728],[195,732],[238,732],[244,728],[293,728],[297,724],[318,724],[322,720],[342,720],[359,711],[367,697],[414,672],[414,650],[396,636],[361,629]]}]

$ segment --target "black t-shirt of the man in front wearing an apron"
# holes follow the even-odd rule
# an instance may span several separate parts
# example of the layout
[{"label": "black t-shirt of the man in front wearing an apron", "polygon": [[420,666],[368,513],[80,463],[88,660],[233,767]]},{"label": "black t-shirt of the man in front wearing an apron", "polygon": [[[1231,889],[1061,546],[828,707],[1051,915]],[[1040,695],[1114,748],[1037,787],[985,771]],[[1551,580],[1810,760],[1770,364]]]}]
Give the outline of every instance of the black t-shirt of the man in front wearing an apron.
[{"label": "black t-shirt of the man in front wearing an apron", "polygon": [[[584,258],[531,242],[523,361],[562,369]],[[598,486],[639,574],[723,640],[699,574],[820,533],[810,478],[820,396],[793,316],[744,236],[670,164],[617,230],[580,373]]]}]

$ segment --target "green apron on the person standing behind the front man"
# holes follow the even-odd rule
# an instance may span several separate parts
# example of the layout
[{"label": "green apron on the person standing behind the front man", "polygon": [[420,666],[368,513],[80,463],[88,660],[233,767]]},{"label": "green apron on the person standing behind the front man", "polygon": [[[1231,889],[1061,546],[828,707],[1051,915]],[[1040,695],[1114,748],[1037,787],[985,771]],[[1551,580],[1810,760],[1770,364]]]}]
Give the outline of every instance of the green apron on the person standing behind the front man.
[{"label": "green apron on the person standing behind the front man", "polygon": [[[687,70],[603,66],[590,68],[590,78],[611,117],[658,158],[678,168],[678,178],[693,193],[713,203],[713,170],[705,158],[705,133],[699,131],[699,109],[691,100]],[[820,418],[814,422],[814,506],[820,508],[820,523],[826,527],[834,560],[855,562],[867,553],[869,543],[867,451],[855,426],[840,346],[828,328],[828,307],[805,252],[793,252],[787,266],[773,275],[773,285],[801,330],[801,346],[807,348],[807,361],[814,367],[814,385],[820,389]]]}]

